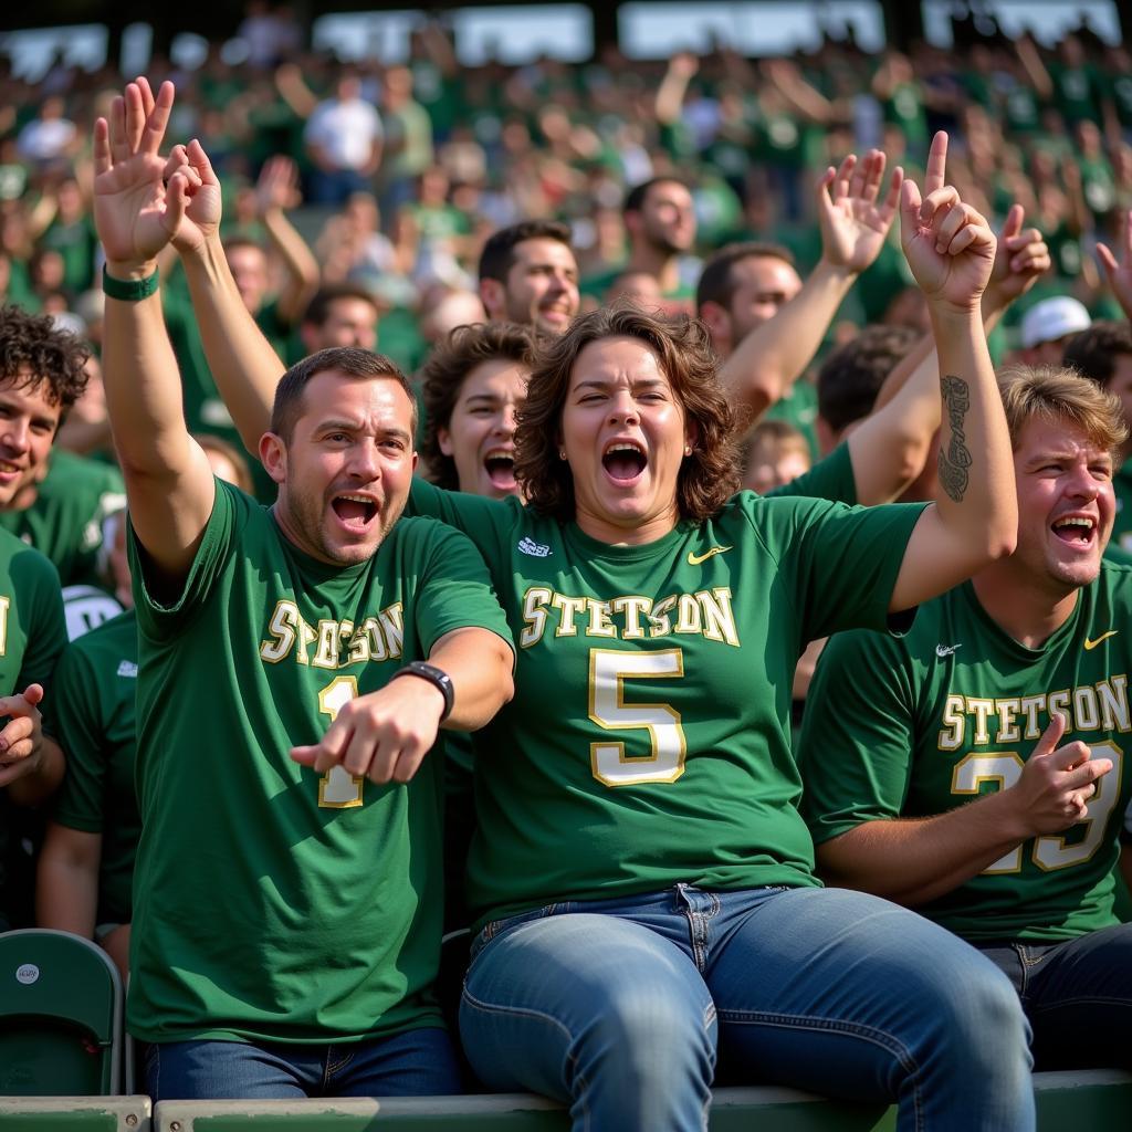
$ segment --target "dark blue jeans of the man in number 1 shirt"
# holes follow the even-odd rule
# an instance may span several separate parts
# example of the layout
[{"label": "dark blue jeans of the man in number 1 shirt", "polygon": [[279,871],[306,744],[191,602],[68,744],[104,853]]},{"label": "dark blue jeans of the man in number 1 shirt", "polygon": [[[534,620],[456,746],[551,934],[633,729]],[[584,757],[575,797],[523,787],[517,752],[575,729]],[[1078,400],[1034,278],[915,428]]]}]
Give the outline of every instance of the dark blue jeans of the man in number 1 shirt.
[{"label": "dark blue jeans of the man in number 1 shirt", "polygon": [[146,1052],[155,1100],[290,1100],[293,1097],[429,1097],[460,1092],[446,1030],[406,1030],[376,1041],[163,1041]]}]

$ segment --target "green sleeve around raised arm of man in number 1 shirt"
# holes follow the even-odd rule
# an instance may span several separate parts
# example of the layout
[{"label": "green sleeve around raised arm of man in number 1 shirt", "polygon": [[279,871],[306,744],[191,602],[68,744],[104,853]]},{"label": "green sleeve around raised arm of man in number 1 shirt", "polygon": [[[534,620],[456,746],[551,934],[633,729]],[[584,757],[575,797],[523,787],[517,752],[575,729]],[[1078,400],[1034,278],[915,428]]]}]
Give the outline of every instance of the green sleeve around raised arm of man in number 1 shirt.
[{"label": "green sleeve around raised arm of man in number 1 shirt", "polygon": [[216,498],[212,515],[208,516],[204,537],[189,566],[181,592],[171,602],[158,601],[149,592],[146,580],[151,568],[149,556],[130,523],[128,548],[134,606],[138,616],[138,629],[144,636],[163,641],[177,636],[188,625],[226,565],[247,520],[247,509],[255,506],[239,488],[215,478],[213,482],[216,486]]}]

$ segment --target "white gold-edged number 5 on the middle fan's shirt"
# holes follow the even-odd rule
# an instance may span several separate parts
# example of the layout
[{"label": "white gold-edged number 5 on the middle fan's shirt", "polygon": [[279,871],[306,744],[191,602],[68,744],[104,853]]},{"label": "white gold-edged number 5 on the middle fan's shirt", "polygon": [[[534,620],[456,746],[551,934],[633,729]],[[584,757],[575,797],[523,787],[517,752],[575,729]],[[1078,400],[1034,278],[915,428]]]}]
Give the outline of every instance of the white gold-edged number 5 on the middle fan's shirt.
[{"label": "white gold-edged number 5 on the middle fan's shirt", "polygon": [[684,773],[687,743],[680,713],[668,704],[625,703],[625,680],[684,676],[684,651],[590,651],[590,719],[608,731],[648,731],[651,752],[627,755],[619,741],[591,743],[593,777],[606,786],[675,782]]}]

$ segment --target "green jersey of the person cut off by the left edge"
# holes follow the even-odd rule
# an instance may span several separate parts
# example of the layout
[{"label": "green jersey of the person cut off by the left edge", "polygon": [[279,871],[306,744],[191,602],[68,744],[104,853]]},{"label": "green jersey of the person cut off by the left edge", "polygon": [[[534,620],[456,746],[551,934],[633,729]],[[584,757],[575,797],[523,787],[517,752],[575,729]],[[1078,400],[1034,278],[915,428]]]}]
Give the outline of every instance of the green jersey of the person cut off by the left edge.
[{"label": "green jersey of the person cut off by the left edge", "polygon": [[[0,531],[0,695],[51,677],[67,644],[63,603],[55,568],[37,550]],[[7,722],[0,720],[0,726]],[[0,789],[0,931],[31,923],[31,860],[19,849],[17,826],[36,824]]]}]

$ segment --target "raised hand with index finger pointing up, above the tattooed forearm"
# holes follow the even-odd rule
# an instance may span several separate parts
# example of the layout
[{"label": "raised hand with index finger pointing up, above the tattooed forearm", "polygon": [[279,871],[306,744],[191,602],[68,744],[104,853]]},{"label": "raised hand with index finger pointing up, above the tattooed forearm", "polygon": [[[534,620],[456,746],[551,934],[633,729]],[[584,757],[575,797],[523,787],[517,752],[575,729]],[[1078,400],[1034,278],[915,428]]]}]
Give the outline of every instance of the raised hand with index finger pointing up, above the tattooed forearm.
[{"label": "raised hand with index finger pointing up, above the tattooed forearm", "polygon": [[932,140],[924,197],[903,182],[900,242],[929,305],[974,310],[990,278],[996,241],[986,218],[945,183],[946,163],[947,135],[941,131]]}]

